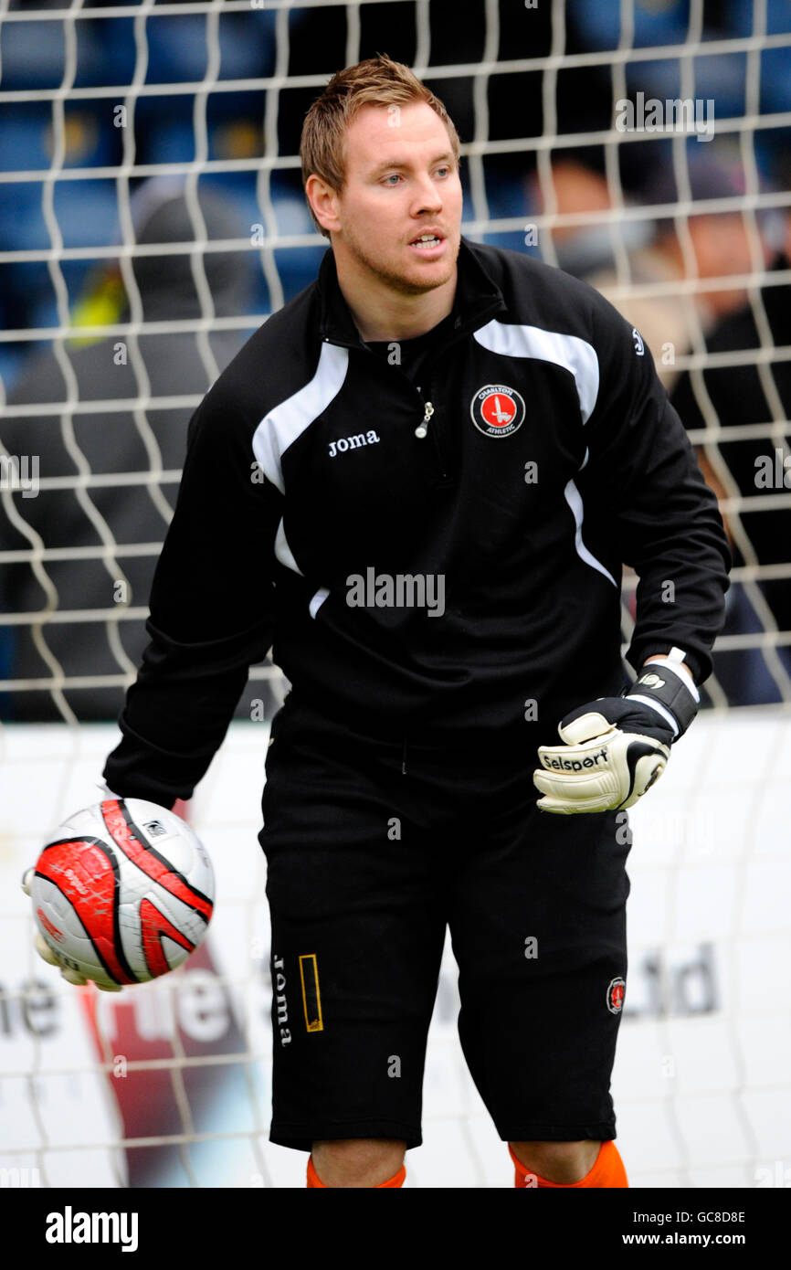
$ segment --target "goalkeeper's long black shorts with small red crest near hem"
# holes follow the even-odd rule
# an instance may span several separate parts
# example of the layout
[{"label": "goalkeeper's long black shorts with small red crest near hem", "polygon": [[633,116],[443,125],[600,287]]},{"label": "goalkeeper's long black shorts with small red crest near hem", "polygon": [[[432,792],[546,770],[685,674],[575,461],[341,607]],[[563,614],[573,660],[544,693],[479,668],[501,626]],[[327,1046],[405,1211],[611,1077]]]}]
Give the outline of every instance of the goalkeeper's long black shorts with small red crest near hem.
[{"label": "goalkeeper's long black shorts with small red crest near hem", "polygon": [[503,1140],[607,1140],[626,978],[623,813],[536,808],[535,748],[356,735],[288,702],[264,829],[270,1139],[422,1142],[446,927],[463,1054]]}]

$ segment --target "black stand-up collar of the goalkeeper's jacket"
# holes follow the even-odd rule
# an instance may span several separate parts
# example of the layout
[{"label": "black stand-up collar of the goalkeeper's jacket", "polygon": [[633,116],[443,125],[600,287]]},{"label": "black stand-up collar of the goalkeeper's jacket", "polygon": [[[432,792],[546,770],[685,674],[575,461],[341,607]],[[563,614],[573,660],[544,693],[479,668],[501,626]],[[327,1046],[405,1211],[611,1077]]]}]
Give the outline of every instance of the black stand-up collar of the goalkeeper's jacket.
[{"label": "black stand-up collar of the goalkeeper's jacket", "polygon": [[[457,267],[453,339],[466,335],[471,330],[477,330],[495,312],[505,307],[500,288],[489,277],[463,237]],[[321,339],[329,340],[331,344],[343,344],[345,348],[364,347],[338,283],[338,271],[331,248],[325,251],[319,268],[317,288]]]}]

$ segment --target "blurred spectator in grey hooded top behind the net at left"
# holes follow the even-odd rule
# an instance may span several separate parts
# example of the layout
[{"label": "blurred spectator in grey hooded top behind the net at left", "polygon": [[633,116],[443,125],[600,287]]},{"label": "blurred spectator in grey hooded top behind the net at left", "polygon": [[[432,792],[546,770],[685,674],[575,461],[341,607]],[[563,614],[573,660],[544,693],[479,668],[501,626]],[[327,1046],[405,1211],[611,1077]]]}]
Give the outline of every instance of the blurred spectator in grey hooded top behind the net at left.
[{"label": "blurred spectator in grey hooded top behind the net at left", "polygon": [[[217,193],[201,189],[201,211],[208,239],[239,239],[239,225]],[[194,231],[183,183],[156,179],[140,187],[132,198],[138,244],[187,243]],[[253,253],[206,251],[206,278],[217,316],[245,311]],[[193,278],[190,253],[137,255],[133,273],[146,323],[197,319],[203,312]],[[113,311],[117,298],[126,301],[113,267],[99,279],[83,306],[83,320],[112,323],[128,320],[130,312]],[[211,315],[209,315],[211,316]],[[202,396],[248,337],[245,330],[212,331],[208,357],[202,356],[197,333],[164,331],[141,334],[138,349],[149,384],[138,382],[131,338],[112,337],[69,349],[79,408],[61,415],[55,408],[69,398],[69,385],[51,348],[34,356],[22,373],[8,418],[0,423],[0,446],[6,455],[38,461],[41,480],[65,478],[62,488],[41,489],[37,497],[14,495],[17,513],[41,536],[46,549],[76,551],[75,559],[43,564],[57,592],[58,617],[65,611],[110,611],[109,620],[44,621],[46,648],[67,677],[118,676],[135,665],[146,644],[142,620],[116,621],[127,605],[147,606],[159,544],[161,544],[175,497],[175,484],[152,488],[146,475],[182,466],[190,406],[122,410],[88,409],[91,401],[135,400],[138,396]],[[206,351],[203,351],[206,352]],[[13,406],[36,404],[41,413],[14,417]],[[140,424],[140,425],[138,425]],[[81,488],[79,476],[109,478],[107,484]],[[137,474],[137,484],[124,475]],[[6,494],[5,499],[10,495]],[[150,554],[136,555],[135,546],[152,544]],[[114,546],[121,552],[114,555]],[[0,549],[29,550],[30,541],[6,514],[0,502]],[[124,554],[123,549],[132,549]],[[80,555],[83,549],[84,555]],[[88,550],[85,550],[88,549]],[[6,612],[37,612],[48,606],[44,587],[29,563],[4,565],[3,607]],[[126,583],[123,585],[122,583]],[[5,635],[4,664],[13,678],[50,678],[52,667],[37,648],[34,626],[0,626]],[[113,650],[119,640],[121,657]],[[80,720],[113,719],[123,701],[123,690],[74,688],[65,692]],[[4,718],[19,720],[60,719],[48,691],[20,691],[3,707]]]}]

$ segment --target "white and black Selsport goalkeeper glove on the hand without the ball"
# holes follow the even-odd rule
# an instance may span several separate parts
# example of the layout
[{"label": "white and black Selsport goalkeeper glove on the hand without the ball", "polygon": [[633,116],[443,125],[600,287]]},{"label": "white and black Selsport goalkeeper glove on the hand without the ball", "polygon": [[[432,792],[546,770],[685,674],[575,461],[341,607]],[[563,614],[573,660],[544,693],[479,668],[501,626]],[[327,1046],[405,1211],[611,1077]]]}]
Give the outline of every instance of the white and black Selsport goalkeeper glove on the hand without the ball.
[{"label": "white and black Selsport goalkeeper glove on the hand without the ball", "polygon": [[634,806],[665,770],[670,745],[697,712],[700,696],[679,671],[682,654],[645,665],[620,697],[601,697],[560,721],[564,745],[541,745],[533,782],[542,812],[576,815]]}]

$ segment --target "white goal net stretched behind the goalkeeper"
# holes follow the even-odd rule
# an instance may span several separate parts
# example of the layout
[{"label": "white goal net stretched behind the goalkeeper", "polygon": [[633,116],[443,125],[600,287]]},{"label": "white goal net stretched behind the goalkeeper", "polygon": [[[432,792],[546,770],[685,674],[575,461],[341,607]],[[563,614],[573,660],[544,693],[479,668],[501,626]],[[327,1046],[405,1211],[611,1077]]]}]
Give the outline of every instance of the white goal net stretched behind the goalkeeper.
[{"label": "white goal net stretched behind the goalkeeper", "polygon": [[[791,1185],[791,29],[772,0],[469,0],[463,22],[447,0],[0,5],[0,1185],[303,1184],[267,1139],[277,667],[251,669],[193,803],[220,903],[183,970],[69,988],[32,952],[19,878],[99,796],[192,410],[326,249],[305,112],[383,50],[458,127],[465,234],[623,311],[720,498],[735,568],[706,709],[632,814],[613,1093],[632,1185]],[[634,591],[626,570],[625,644]],[[508,1185],[456,1013],[448,949],[410,1184]]]}]

